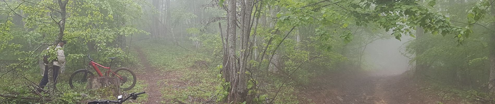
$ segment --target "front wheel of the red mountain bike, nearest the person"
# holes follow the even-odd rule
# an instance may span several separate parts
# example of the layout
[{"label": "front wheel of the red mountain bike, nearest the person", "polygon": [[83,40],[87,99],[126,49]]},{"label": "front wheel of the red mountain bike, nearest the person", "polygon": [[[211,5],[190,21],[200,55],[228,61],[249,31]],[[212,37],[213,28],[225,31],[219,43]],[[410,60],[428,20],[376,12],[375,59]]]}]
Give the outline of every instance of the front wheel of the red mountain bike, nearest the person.
[{"label": "front wheel of the red mountain bike, nearest the person", "polygon": [[94,76],[93,72],[88,69],[78,69],[70,75],[69,86],[72,89],[86,89],[88,78]]}]

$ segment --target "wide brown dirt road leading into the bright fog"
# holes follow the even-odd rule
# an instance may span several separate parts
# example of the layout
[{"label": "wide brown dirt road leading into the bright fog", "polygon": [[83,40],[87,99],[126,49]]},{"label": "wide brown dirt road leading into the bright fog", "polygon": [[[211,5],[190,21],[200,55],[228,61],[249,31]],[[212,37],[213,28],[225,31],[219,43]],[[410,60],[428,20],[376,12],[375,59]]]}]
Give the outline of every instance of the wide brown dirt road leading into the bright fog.
[{"label": "wide brown dirt road leading into the bright fog", "polygon": [[460,99],[443,100],[404,74],[343,72],[313,79],[314,84],[301,92],[311,101],[302,104],[463,104]]}]

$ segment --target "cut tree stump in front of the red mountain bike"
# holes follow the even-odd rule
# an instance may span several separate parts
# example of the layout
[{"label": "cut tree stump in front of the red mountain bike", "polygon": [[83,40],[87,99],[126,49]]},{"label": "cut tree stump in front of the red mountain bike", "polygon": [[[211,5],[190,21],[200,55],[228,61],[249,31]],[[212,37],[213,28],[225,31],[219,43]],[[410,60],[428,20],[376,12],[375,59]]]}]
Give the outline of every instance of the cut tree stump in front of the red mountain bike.
[{"label": "cut tree stump in front of the red mountain bike", "polygon": [[120,79],[118,77],[91,77],[88,79],[87,89],[98,89],[102,96],[122,95]]}]

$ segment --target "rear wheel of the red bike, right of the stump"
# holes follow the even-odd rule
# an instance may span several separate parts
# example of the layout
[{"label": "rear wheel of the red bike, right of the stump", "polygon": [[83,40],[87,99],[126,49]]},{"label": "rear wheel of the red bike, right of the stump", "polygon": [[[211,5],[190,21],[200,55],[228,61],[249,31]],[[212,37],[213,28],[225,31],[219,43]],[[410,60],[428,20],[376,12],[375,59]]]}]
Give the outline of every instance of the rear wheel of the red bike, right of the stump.
[{"label": "rear wheel of the red bike, right of the stump", "polygon": [[112,77],[116,77],[116,75],[120,76],[120,89],[124,91],[131,90],[136,85],[136,74],[131,71],[129,68],[119,68],[115,70],[116,74],[113,74]]}]

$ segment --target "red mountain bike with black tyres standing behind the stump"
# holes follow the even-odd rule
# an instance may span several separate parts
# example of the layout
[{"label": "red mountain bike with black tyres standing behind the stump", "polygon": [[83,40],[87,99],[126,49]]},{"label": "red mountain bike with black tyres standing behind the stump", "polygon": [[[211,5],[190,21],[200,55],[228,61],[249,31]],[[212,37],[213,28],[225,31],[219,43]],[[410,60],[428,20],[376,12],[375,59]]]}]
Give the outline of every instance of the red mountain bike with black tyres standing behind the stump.
[{"label": "red mountain bike with black tyres standing behind the stump", "polygon": [[[110,62],[110,67],[104,67],[104,66],[99,65],[98,63],[95,63],[95,61],[93,61],[93,58],[91,58],[90,55],[88,55],[88,58],[90,59],[90,63],[86,69],[78,69],[78,70],[74,71],[74,73],[72,73],[72,75],[70,75],[69,85],[71,88],[74,89],[74,88],[86,87],[87,79],[90,77],[94,77],[93,72],[88,70],[88,68],[90,68],[90,66],[92,66],[93,69],[96,70],[99,77],[102,77],[103,73],[101,73],[101,71],[98,69],[97,66],[104,68],[104,69],[108,69],[107,71],[105,71],[104,76],[111,75],[112,77],[119,77],[120,81],[121,81],[120,82],[120,84],[121,84],[120,89],[122,89],[124,91],[130,90],[136,85],[136,74],[134,74],[134,72],[131,71],[129,68],[119,68],[115,71],[112,71],[110,69],[112,66],[113,59],[115,59],[116,57],[107,58],[107,59],[112,60]],[[129,79],[131,79],[132,82]]]}]

